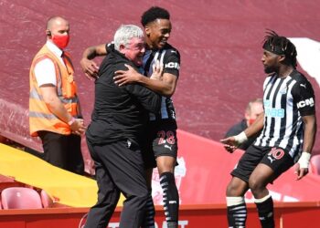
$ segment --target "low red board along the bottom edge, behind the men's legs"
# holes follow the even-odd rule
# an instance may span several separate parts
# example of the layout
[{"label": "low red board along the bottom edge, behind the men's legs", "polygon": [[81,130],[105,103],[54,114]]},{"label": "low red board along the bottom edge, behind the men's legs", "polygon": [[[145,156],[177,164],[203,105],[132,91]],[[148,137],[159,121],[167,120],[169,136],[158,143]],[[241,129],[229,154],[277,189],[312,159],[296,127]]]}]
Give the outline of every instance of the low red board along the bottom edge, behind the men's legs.
[{"label": "low red board along the bottom edge, behind the men's legs", "polygon": [[[0,210],[0,228],[82,228],[88,208],[53,208],[37,210]],[[319,202],[275,204],[275,228],[315,228],[320,223]],[[156,208],[156,228],[165,228],[164,212]],[[120,208],[113,214],[108,228],[118,228]],[[226,206],[181,206],[179,228],[228,227]],[[248,206],[247,227],[260,227],[253,204]]]}]

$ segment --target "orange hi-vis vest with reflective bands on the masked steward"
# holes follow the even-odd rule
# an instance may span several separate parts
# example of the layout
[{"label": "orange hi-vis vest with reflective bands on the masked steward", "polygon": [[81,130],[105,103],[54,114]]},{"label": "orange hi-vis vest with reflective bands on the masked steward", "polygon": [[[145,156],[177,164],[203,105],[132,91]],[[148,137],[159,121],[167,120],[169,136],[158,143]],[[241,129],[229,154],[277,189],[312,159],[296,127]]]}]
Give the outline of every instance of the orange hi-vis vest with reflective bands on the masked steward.
[{"label": "orange hi-vis vest with reflective bands on the masked steward", "polygon": [[[68,53],[64,52],[63,65],[58,57],[52,53],[45,45],[37,53],[30,67],[30,97],[29,97],[29,127],[31,136],[37,136],[38,130],[48,130],[63,135],[69,135],[71,130],[68,123],[63,122],[52,114],[47,104],[43,100],[40,88],[37,86],[35,76],[36,64],[45,59],[52,60],[56,70],[57,94],[64,107],[73,117],[80,115],[79,99],[77,96],[77,86],[73,80],[74,69]],[[43,77],[46,77],[44,75]]]}]

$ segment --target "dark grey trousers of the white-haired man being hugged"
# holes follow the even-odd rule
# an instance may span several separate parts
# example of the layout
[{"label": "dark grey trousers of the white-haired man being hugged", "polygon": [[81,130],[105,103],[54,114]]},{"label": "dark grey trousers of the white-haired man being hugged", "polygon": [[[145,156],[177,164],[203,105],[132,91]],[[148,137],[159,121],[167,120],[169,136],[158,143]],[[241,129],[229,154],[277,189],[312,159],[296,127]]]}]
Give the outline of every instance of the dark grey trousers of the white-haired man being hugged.
[{"label": "dark grey trousers of the white-haired man being hugged", "polygon": [[85,228],[105,228],[121,192],[126,200],[120,228],[140,227],[148,198],[140,148],[124,140],[103,145],[92,145],[87,140],[87,144],[95,164],[99,191],[98,202],[91,207]]}]

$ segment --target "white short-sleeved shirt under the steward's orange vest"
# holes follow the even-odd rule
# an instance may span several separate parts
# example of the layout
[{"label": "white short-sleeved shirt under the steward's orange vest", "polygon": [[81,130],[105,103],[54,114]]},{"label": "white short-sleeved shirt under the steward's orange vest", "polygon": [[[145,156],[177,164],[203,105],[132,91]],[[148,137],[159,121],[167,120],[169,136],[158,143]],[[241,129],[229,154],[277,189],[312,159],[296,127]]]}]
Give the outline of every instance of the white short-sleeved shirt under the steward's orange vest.
[{"label": "white short-sleeved shirt under the steward's orange vest", "polygon": [[[60,62],[64,64],[61,57],[62,50],[59,49],[52,42],[47,41],[46,46],[48,49],[59,58]],[[37,62],[35,66],[35,77],[37,79],[37,86],[41,87],[44,84],[52,84],[57,86],[56,69],[55,65],[50,58],[45,58]]]}]

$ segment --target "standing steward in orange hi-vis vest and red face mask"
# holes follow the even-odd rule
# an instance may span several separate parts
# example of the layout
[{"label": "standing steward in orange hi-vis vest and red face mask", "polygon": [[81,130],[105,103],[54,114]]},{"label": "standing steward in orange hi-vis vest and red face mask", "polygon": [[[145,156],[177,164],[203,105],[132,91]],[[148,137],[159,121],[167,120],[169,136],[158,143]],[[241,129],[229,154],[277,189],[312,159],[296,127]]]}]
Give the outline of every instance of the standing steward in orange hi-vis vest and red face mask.
[{"label": "standing steward in orange hi-vis vest and red face mask", "polygon": [[43,160],[61,169],[84,173],[81,134],[87,129],[73,78],[69,21],[52,16],[47,21],[47,42],[30,67],[30,134],[42,141]]}]

